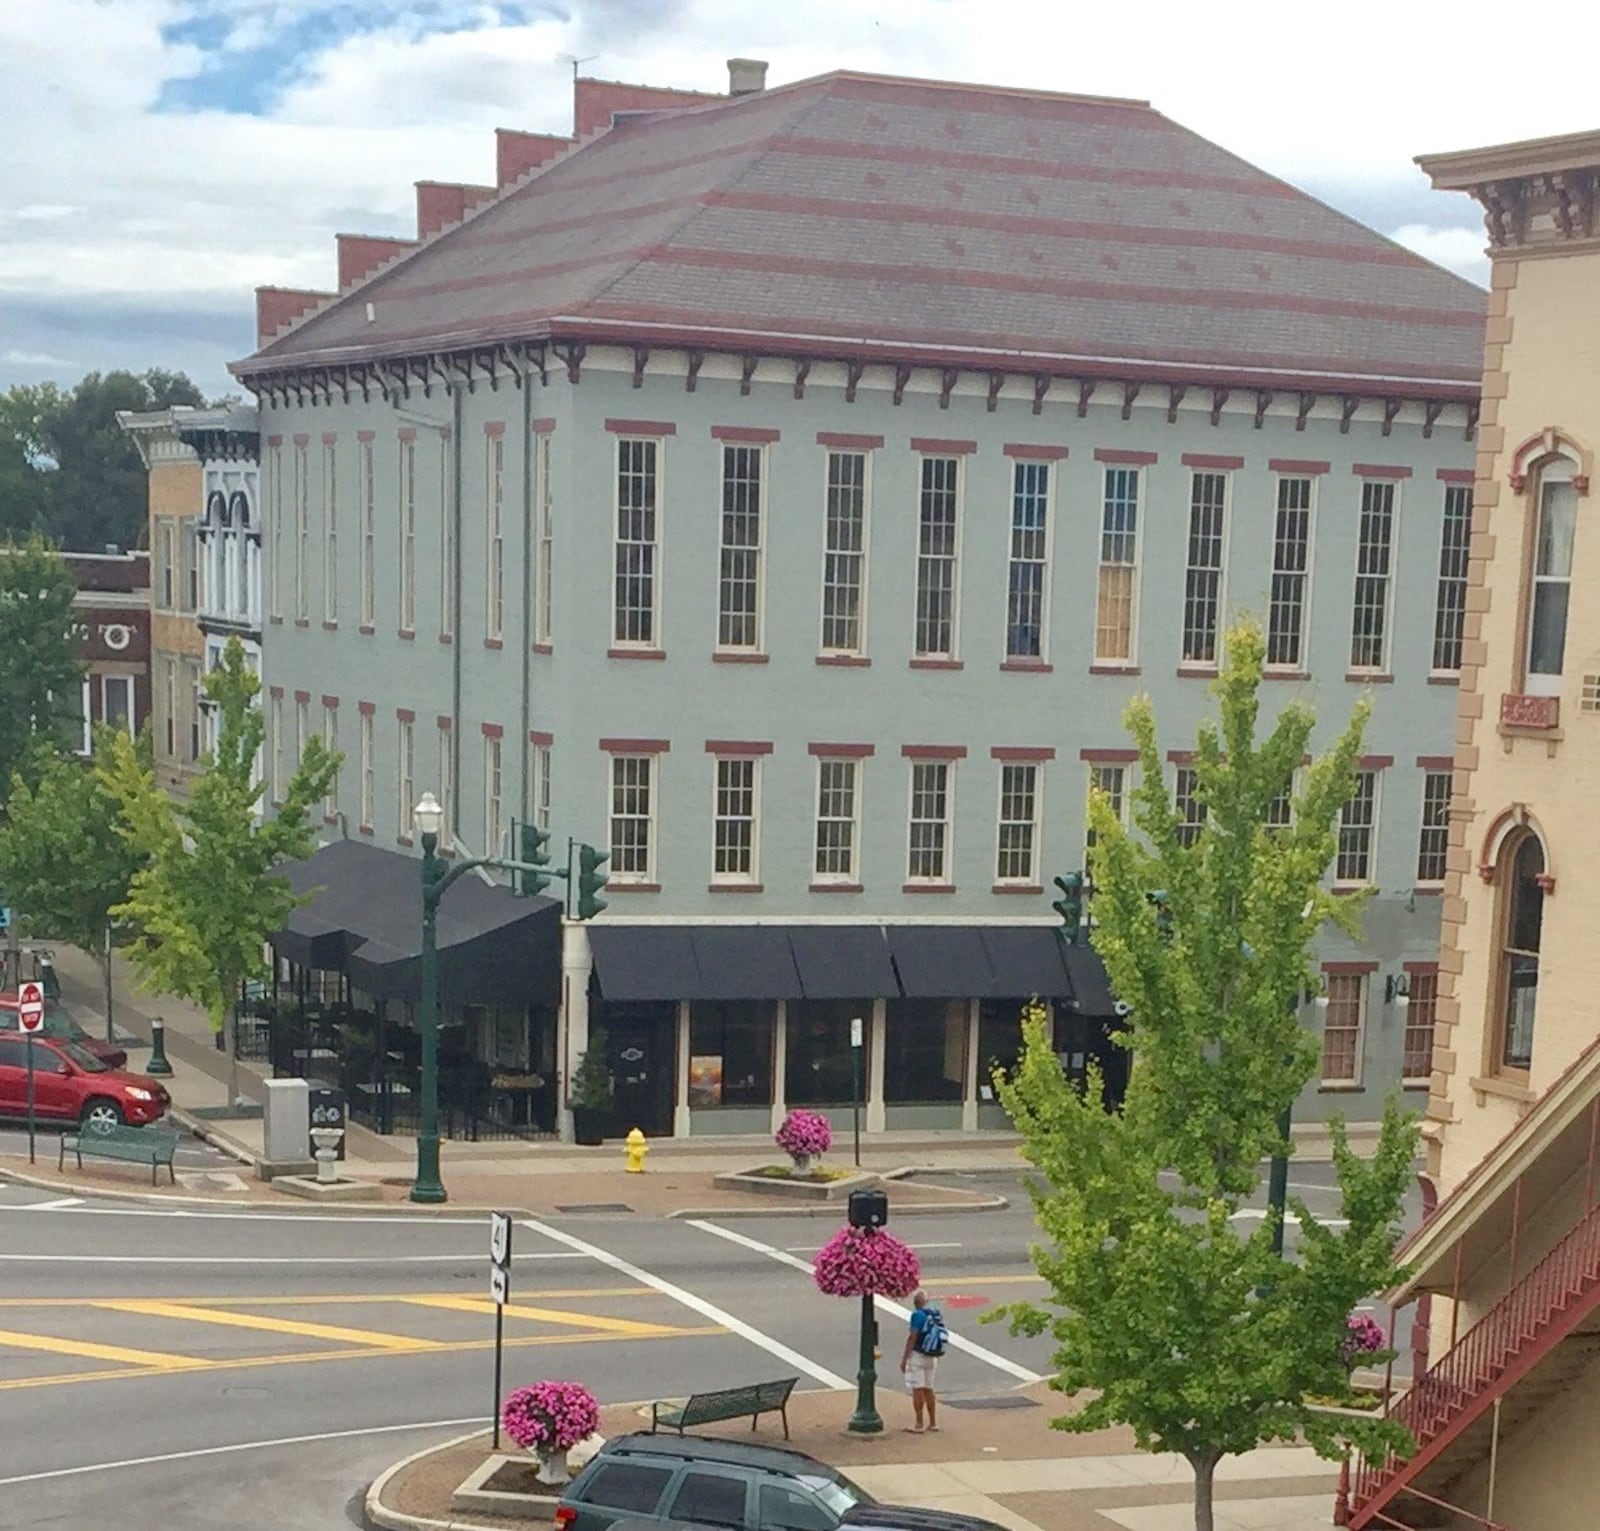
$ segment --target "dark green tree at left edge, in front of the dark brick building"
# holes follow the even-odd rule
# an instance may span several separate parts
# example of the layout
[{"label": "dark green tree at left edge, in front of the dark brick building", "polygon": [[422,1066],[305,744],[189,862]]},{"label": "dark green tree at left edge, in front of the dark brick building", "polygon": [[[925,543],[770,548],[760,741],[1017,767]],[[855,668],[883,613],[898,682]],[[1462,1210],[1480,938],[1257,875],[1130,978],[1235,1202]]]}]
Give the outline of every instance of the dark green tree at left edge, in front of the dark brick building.
[{"label": "dark green tree at left edge, in front of the dark brick building", "polygon": [[83,736],[77,586],[43,539],[0,546],[0,784]]}]

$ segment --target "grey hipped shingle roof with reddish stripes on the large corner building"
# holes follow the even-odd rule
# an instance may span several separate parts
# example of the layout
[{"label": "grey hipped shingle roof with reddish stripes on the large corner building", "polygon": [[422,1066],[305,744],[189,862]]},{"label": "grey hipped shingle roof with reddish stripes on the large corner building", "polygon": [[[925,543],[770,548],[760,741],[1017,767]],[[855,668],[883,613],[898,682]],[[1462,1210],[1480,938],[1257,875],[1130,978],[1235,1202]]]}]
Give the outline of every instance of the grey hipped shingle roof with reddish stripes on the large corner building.
[{"label": "grey hipped shingle roof with reddish stripes on the large corner building", "polygon": [[1483,315],[1144,102],[832,74],[619,114],[237,370],[555,338],[1470,398]]}]

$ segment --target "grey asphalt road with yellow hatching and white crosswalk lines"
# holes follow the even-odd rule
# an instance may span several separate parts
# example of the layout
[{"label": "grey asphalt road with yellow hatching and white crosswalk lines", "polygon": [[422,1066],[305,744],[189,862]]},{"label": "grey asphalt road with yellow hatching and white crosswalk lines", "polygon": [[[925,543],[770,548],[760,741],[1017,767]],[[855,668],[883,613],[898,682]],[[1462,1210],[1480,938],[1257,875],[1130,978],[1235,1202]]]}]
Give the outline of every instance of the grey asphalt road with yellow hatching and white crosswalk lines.
[{"label": "grey asphalt road with yellow hatching and white crosswalk lines", "polygon": [[[979,1184],[1016,1192],[1016,1176]],[[1318,1166],[1296,1166],[1312,1211]],[[856,1310],[806,1262],[832,1217],[518,1224],[507,1385],[602,1401],[768,1376],[848,1389]],[[1048,1369],[982,1312],[1037,1296],[1026,1197],[898,1229],[957,1349],[947,1395]],[[885,1385],[898,1317],[880,1312]],[[0,1187],[0,1528],[323,1531],[360,1525],[395,1457],[485,1422],[493,1305],[480,1217],[176,1211]]]}]

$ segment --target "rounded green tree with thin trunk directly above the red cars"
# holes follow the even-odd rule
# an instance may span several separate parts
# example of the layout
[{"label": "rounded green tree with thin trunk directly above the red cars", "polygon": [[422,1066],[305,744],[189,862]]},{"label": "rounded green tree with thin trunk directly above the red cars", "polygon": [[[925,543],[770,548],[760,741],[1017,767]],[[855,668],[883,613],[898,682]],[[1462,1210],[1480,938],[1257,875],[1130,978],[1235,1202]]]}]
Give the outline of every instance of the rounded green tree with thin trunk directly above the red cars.
[{"label": "rounded green tree with thin trunk directly above the red cars", "polygon": [[[94,752],[110,749],[96,731]],[[147,742],[136,746],[147,752]],[[112,1024],[112,910],[128,897],[142,857],[117,832],[117,800],[93,765],[43,752],[35,784],[11,782],[0,825],[0,888],[26,910],[30,934],[69,941],[101,958],[106,981],[106,1035]]]}]

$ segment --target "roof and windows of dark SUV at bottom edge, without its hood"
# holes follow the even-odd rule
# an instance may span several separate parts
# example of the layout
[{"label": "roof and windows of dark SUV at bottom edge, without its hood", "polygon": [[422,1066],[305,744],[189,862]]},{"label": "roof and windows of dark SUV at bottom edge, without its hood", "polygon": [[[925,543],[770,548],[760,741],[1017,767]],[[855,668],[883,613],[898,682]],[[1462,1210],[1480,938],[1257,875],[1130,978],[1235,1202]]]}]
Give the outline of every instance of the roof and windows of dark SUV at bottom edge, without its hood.
[{"label": "roof and windows of dark SUV at bottom edge, without its hood", "polygon": [[619,1435],[573,1480],[555,1531],[693,1521],[728,1531],[837,1531],[872,1496],[842,1472],[787,1446],[709,1437]]}]

